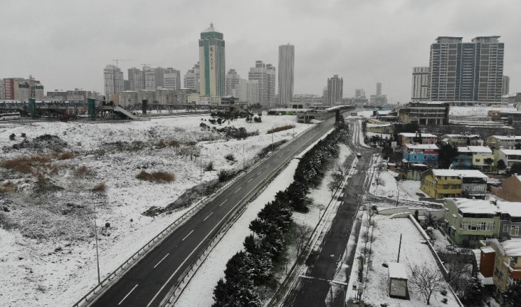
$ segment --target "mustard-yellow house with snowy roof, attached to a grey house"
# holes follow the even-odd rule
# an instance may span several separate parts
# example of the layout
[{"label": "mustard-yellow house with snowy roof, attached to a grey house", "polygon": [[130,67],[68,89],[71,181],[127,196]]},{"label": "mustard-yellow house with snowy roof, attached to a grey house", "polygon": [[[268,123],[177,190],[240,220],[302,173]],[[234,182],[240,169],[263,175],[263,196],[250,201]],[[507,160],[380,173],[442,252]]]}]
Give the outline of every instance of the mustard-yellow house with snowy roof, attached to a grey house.
[{"label": "mustard-yellow house with snowy roof, attached to a grey house", "polygon": [[419,189],[432,198],[460,197],[461,177],[454,170],[426,170]]}]

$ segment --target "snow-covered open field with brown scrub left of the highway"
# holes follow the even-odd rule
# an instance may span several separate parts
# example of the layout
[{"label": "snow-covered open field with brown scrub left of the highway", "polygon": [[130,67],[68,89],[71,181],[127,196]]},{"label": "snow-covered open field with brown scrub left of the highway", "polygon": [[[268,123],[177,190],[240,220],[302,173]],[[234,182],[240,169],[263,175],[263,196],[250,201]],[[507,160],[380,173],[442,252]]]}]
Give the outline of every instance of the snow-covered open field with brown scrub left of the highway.
[{"label": "snow-covered open field with brown scrub left of the highway", "polygon": [[[216,179],[216,170],[242,168],[243,152],[248,166],[263,147],[293,137],[293,130],[267,135],[268,129],[292,124],[298,135],[310,127],[296,123],[295,116],[263,116],[262,123],[238,119],[230,126],[244,127],[248,132],[258,130],[259,135],[227,140],[221,133],[200,128],[200,123],[214,126],[202,118],[209,116],[125,123],[0,125],[0,163],[21,157],[48,157],[46,163],[34,166],[32,173],[0,168],[0,187],[14,185],[16,191],[0,192],[0,207],[8,210],[0,213],[0,306],[68,306],[97,283],[94,207],[104,278],[188,210],[155,218],[141,214],[151,206],[172,203],[183,191],[199,184],[201,164],[214,164],[213,171],[202,172],[202,181]],[[228,123],[217,128],[225,126]],[[13,149],[13,144],[24,139],[22,133],[32,147]],[[34,142],[45,134],[59,139]],[[181,145],[169,146],[172,141]],[[74,154],[52,156],[49,146]],[[190,151],[200,152],[202,163],[199,158],[190,159]],[[236,161],[224,158],[229,153]],[[84,172],[81,166],[85,166]],[[175,179],[160,184],[144,182],[136,179],[141,170],[169,172]],[[45,178],[40,190],[35,189],[35,175]],[[8,182],[11,185],[6,185]],[[106,190],[91,191],[99,183],[104,183]],[[104,227],[105,223],[110,227]]]}]

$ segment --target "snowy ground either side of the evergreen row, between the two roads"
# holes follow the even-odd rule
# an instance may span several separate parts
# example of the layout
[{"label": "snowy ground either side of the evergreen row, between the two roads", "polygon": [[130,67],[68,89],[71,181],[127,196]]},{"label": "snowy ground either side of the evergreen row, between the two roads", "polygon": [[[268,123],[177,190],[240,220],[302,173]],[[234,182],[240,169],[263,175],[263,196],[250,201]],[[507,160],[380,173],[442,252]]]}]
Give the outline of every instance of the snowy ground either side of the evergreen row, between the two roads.
[{"label": "snowy ground either side of the evergreen row, between the two roads", "polygon": [[[308,147],[307,150],[312,148]],[[339,160],[344,161],[349,156],[350,151],[347,146],[340,144]],[[261,195],[248,205],[242,216],[235,222],[234,226],[228,230],[221,241],[216,245],[188,283],[187,287],[176,302],[176,306],[211,306],[214,303],[213,291],[220,278],[224,278],[224,270],[228,259],[230,259],[239,250],[243,250],[244,238],[249,231],[250,222],[257,217],[258,212],[264,205],[275,199],[278,191],[286,189],[293,182],[293,175],[298,165],[298,160],[293,159],[289,165],[283,170],[261,193]],[[331,181],[331,170],[326,172],[321,185],[310,192],[308,195],[313,199],[313,205],[310,206],[310,212],[306,214],[293,212],[293,221],[296,224],[310,226],[314,228],[319,221],[319,214],[324,213],[324,208],[331,200],[331,191],[328,190],[327,184]],[[296,249],[289,247],[288,250],[288,267],[291,268],[296,259]],[[285,278],[285,272],[277,275],[279,282]]]}]

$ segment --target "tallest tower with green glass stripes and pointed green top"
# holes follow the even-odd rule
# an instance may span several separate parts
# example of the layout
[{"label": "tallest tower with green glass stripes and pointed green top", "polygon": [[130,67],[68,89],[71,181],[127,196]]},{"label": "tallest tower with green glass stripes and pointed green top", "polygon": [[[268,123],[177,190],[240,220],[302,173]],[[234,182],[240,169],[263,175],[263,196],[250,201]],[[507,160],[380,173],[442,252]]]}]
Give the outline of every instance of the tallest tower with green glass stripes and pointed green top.
[{"label": "tallest tower with green glass stripes and pointed green top", "polygon": [[201,95],[224,96],[225,54],[223,34],[214,24],[201,33],[199,40]]}]

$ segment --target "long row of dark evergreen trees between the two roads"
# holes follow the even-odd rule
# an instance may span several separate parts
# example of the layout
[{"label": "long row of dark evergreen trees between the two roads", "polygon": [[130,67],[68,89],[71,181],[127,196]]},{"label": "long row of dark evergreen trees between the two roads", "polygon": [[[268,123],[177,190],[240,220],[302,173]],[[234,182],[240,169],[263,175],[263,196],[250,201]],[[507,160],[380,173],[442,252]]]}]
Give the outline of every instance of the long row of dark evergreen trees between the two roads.
[{"label": "long row of dark evergreen trees between the two roads", "polygon": [[284,261],[286,234],[293,222],[293,210],[307,212],[307,191],[320,184],[324,167],[337,151],[337,142],[345,128],[336,128],[326,138],[307,151],[297,166],[294,182],[275,195],[251,221],[253,234],[244,239],[244,251],[237,252],[226,264],[225,280],[214,289],[214,307],[262,306],[258,288],[272,285],[275,266]]}]

